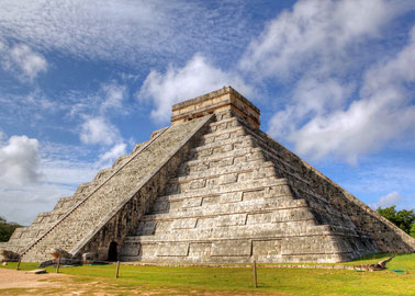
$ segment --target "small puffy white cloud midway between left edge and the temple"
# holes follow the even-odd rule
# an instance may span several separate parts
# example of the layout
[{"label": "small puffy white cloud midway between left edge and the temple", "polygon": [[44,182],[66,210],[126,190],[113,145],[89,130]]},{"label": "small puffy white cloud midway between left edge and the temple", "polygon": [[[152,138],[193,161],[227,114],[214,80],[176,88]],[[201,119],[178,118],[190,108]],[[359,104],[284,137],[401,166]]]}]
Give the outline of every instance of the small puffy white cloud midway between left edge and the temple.
[{"label": "small puffy white cloud midway between left edge and the temple", "polygon": [[79,137],[88,145],[112,145],[121,139],[120,130],[103,117],[87,118]]}]

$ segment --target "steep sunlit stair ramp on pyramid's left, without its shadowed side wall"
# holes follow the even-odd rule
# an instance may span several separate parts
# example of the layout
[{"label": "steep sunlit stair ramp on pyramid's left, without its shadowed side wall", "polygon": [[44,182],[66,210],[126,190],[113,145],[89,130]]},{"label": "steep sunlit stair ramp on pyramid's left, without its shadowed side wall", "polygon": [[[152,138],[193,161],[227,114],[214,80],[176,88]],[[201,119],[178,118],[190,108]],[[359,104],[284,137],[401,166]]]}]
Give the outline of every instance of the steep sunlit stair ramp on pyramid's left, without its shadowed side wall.
[{"label": "steep sunlit stair ramp on pyramid's left, without its shadowed side wall", "polygon": [[120,206],[132,198],[138,192],[141,182],[154,174],[155,169],[159,169],[160,164],[172,157],[175,149],[183,145],[183,139],[189,140],[208,119],[195,119],[158,133],[135,149],[131,157],[121,158],[113,169],[101,171],[93,182],[80,186],[75,194],[75,198],[80,202],[22,252],[23,260],[48,260],[52,248],[60,248],[77,255],[105,221],[116,214],[114,209],[120,209]]}]

